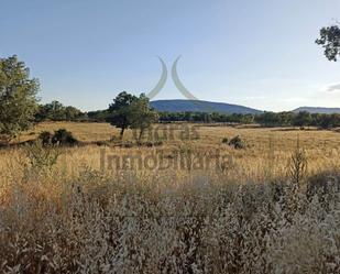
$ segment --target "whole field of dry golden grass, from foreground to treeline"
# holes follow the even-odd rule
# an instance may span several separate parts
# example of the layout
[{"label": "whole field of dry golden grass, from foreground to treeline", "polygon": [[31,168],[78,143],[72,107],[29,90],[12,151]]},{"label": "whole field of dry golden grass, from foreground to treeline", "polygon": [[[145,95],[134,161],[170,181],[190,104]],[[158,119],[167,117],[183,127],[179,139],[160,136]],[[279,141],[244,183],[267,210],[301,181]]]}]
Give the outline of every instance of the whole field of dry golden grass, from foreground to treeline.
[{"label": "whole field of dry golden grass, from foreground to treeline", "polygon": [[[138,146],[43,123],[20,141],[59,128],[79,146],[1,150],[0,273],[340,273],[339,132],[185,124]],[[244,149],[222,143],[235,135]],[[109,165],[123,155],[157,166]]]}]

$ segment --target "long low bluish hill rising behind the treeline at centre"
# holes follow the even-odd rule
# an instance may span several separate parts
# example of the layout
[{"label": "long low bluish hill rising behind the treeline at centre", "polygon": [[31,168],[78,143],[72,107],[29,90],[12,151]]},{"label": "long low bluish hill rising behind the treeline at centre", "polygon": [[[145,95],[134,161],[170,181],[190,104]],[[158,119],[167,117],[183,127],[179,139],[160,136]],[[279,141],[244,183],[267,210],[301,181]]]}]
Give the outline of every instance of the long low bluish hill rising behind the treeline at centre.
[{"label": "long low bluish hill rising behind the treeline at centre", "polygon": [[200,100],[156,100],[151,101],[151,106],[157,111],[167,112],[219,112],[219,113],[251,113],[257,114],[263,111],[252,108],[246,108],[239,105],[224,102],[210,102]]}]

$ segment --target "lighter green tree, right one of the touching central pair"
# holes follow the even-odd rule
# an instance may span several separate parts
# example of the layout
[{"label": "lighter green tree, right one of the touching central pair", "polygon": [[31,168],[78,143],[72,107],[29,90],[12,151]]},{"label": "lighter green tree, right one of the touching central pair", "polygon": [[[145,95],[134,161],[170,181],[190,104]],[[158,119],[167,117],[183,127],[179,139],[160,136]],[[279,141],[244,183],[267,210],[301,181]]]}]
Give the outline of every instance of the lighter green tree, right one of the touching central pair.
[{"label": "lighter green tree, right one of the touching central pair", "polygon": [[144,131],[157,121],[158,116],[150,107],[149,98],[144,94],[131,103],[130,110],[131,128],[140,130],[138,142],[141,142]]}]

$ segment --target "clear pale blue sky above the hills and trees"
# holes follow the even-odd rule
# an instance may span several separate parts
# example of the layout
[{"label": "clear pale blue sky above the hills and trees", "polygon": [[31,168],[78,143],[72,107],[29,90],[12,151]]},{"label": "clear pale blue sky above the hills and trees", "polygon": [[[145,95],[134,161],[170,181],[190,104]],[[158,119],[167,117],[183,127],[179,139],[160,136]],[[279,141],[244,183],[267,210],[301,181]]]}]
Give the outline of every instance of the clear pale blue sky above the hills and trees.
[{"label": "clear pale blue sky above the hills and trees", "polygon": [[340,0],[0,0],[0,57],[40,79],[42,102],[106,109],[122,90],[284,111],[340,107],[340,63],[315,44]]}]

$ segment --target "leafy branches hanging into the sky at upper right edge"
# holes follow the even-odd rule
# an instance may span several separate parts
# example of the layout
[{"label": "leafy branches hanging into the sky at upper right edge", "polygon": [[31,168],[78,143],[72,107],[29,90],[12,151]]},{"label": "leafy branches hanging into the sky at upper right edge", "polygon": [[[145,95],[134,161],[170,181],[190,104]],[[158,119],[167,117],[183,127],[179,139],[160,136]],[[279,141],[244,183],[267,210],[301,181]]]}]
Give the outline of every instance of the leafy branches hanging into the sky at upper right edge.
[{"label": "leafy branches hanging into the sky at upper right edge", "polygon": [[329,61],[336,62],[340,55],[340,28],[338,25],[322,28],[316,43],[325,48],[325,55]]}]

